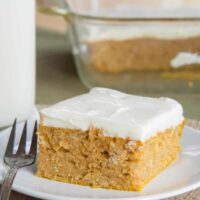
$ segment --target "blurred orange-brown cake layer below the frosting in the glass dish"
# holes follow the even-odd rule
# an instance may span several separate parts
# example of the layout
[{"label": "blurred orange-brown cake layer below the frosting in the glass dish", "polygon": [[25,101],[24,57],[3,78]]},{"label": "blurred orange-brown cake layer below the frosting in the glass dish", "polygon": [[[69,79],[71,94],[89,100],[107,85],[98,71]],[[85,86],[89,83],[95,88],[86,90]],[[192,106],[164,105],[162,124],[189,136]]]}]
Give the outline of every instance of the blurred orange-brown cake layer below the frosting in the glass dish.
[{"label": "blurred orange-brown cake layer below the frosting in the glass dish", "polygon": [[[176,72],[199,70],[198,62],[185,62],[174,67],[172,61],[180,54],[200,52],[200,37],[180,39],[132,38],[124,40],[89,41],[89,64],[103,73]],[[184,61],[183,58],[182,60]]]}]

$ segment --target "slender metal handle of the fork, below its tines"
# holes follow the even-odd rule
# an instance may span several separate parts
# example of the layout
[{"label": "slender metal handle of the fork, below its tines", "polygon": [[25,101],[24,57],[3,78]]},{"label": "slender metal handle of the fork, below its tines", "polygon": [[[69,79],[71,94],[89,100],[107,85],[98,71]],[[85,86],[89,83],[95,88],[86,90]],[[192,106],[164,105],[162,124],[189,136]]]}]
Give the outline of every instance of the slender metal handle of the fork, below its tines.
[{"label": "slender metal handle of the fork, below its tines", "polygon": [[14,178],[16,176],[18,168],[16,166],[11,167],[2,183],[1,186],[1,192],[0,192],[0,200],[8,200],[10,196],[10,191],[12,188],[12,184],[14,181]]}]

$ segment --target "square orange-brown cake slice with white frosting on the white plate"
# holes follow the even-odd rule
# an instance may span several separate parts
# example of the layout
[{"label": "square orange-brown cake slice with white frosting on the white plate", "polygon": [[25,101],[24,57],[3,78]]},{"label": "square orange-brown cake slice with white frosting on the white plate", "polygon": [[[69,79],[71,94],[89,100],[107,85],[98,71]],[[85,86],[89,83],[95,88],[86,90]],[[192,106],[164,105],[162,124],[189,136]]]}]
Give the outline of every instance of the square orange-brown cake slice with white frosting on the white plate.
[{"label": "square orange-brown cake slice with white frosting on the white plate", "polygon": [[37,175],[140,191],[180,152],[182,106],[106,88],[41,111]]}]

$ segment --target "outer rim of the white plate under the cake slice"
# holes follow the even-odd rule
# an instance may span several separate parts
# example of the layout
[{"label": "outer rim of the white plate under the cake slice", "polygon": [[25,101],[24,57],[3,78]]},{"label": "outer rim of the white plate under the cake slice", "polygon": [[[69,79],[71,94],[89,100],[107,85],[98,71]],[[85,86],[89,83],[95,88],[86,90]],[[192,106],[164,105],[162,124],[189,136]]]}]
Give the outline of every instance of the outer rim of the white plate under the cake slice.
[{"label": "outer rim of the white plate under the cake slice", "polygon": [[[32,120],[29,120],[32,121]],[[23,124],[23,122],[17,123],[17,126],[21,126]],[[8,132],[11,129],[11,127],[8,127],[6,129],[3,129],[0,131],[0,139],[1,137],[6,137],[5,134],[6,132]],[[192,132],[196,132],[199,136],[200,136],[200,130],[195,129],[193,127],[190,126],[185,126],[184,129],[188,129]],[[1,158],[0,158],[1,159]],[[88,197],[76,197],[76,196],[60,196],[60,195],[55,195],[55,194],[48,194],[45,192],[40,192],[40,191],[33,191],[32,189],[26,188],[24,186],[20,186],[20,185],[16,185],[15,182],[13,183],[13,187],[12,190],[19,192],[21,194],[24,195],[28,195],[31,197],[35,197],[35,198],[40,198],[40,199],[44,199],[44,200],[156,200],[156,199],[164,199],[164,198],[170,198],[170,197],[174,197],[174,196],[178,196],[187,192],[190,192],[192,190],[195,190],[197,188],[200,187],[200,180],[183,188],[180,189],[174,189],[168,192],[163,192],[163,193],[159,193],[156,195],[146,195],[146,196],[141,196],[141,197],[115,197],[115,198],[88,198]]]}]

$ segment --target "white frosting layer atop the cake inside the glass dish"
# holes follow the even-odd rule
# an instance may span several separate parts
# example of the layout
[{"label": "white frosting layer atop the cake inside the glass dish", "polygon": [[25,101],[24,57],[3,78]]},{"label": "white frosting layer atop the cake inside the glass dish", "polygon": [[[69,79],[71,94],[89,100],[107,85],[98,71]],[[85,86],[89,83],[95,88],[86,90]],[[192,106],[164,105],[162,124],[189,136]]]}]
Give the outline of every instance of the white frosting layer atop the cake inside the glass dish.
[{"label": "white frosting layer atop the cake inside the glass dish", "polygon": [[135,23],[132,26],[113,26],[112,28],[93,26],[81,31],[83,32],[83,40],[89,42],[139,38],[187,39],[200,37],[200,22],[143,22]]}]

